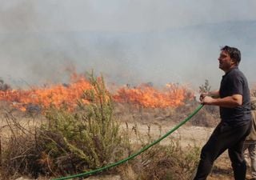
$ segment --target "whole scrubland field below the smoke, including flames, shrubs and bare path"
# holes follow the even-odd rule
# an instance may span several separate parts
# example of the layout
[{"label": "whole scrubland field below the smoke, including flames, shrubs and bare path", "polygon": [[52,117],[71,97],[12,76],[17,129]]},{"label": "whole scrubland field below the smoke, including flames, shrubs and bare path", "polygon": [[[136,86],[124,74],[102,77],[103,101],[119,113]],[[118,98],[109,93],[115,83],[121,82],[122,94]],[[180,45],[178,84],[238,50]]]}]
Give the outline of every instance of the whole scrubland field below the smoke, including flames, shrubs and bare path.
[{"label": "whole scrubland field below the smoke, including flames, shrubs and bare path", "polygon": [[[74,94],[81,84],[88,89]],[[90,83],[82,79],[65,87],[1,92],[1,97],[10,97],[0,103],[0,179],[46,180],[79,174],[138,152],[199,106],[184,86],[167,87],[165,92],[148,85],[126,87],[112,96],[103,79],[91,77]],[[200,150],[218,121],[218,108],[204,106],[138,157],[86,179],[192,179]],[[233,179],[226,153],[214,163],[208,179]]]}]

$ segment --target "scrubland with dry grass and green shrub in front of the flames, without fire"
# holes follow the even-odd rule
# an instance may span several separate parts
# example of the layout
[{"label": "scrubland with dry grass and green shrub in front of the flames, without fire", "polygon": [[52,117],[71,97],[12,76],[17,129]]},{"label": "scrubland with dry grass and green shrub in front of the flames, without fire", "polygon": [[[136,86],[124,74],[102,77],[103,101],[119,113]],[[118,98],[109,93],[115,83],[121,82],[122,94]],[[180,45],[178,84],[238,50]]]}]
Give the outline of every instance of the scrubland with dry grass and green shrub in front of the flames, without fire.
[{"label": "scrubland with dry grass and green shrub in front of the flames, without fire", "polygon": [[[24,114],[2,102],[0,179],[57,178],[117,162],[153,142],[165,133],[163,127],[169,129],[198,106],[193,100],[187,100],[186,106],[171,109],[114,104],[103,78],[98,81],[91,76],[90,82],[94,90],[84,94],[90,104],[84,106],[78,102],[74,113],[63,106],[60,110],[51,107],[44,115]],[[217,122],[218,109],[204,107],[187,126],[212,127]],[[138,123],[146,126],[144,133]],[[157,130],[153,131],[153,126],[157,126]],[[167,144],[153,146],[137,158],[89,179],[191,179],[201,149],[196,143],[198,139],[186,145],[182,145],[181,136],[167,141]],[[231,174],[230,162],[224,154],[209,179],[232,179]]]}]

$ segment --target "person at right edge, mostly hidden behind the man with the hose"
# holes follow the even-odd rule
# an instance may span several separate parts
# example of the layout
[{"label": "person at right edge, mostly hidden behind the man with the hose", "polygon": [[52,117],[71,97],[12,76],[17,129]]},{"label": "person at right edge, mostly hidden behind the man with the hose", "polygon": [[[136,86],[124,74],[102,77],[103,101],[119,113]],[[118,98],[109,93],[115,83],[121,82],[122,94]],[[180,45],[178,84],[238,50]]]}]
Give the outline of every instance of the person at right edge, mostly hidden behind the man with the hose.
[{"label": "person at right edge, mostly hidden behind the man with the hose", "polygon": [[[246,137],[243,150],[248,150],[250,156],[250,180],[256,180],[256,98],[250,97],[250,108],[252,112],[252,128],[250,134]],[[249,158],[249,157],[248,157]]]}]

